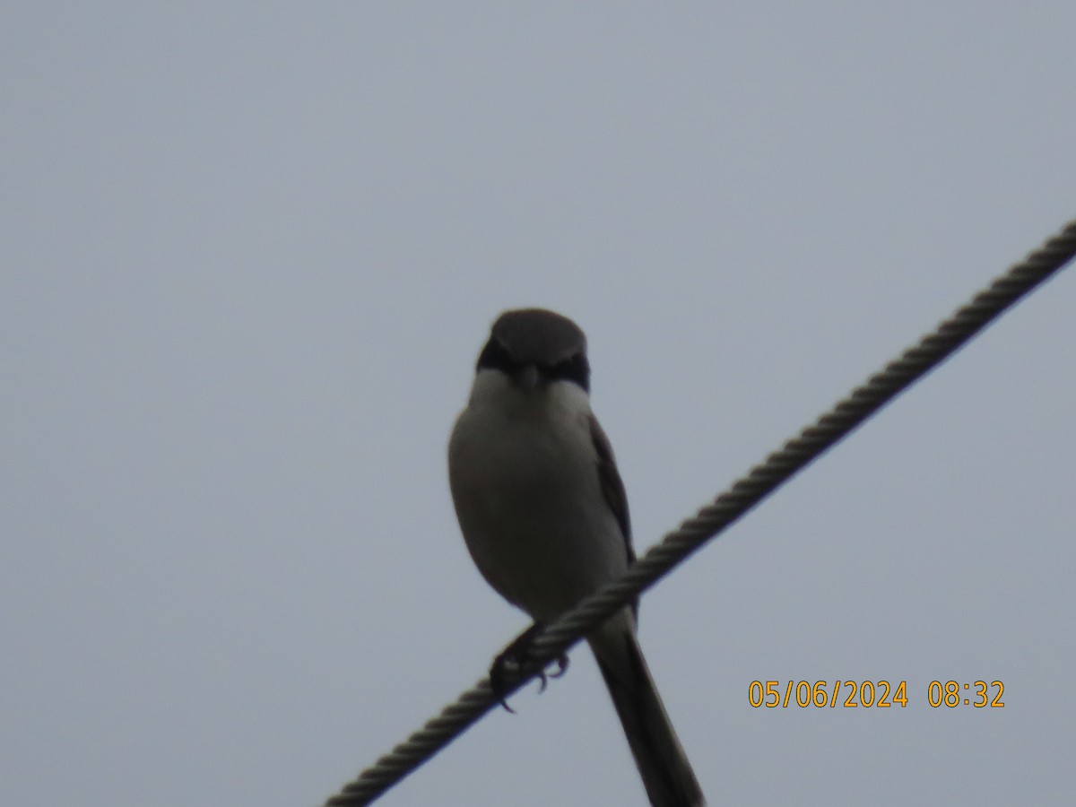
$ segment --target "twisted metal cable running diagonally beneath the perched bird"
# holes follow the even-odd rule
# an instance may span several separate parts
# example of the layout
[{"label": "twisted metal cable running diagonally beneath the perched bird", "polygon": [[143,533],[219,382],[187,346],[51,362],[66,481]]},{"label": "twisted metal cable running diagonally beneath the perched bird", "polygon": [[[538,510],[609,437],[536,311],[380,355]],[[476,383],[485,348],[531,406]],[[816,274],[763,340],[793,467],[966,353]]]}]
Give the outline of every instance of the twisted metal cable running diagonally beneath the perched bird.
[{"label": "twisted metal cable running diagonally beneath the perched bird", "polygon": [[[507,682],[506,696],[538,675],[593,627],[623,608],[674,566],[776,491],[867,417],[960,349],[992,320],[1076,255],[1076,221],[977,294],[918,344],[872,376],[848,397],[771,453],[731,489],[654,546],[620,579],[583,599],[535,637],[533,663]],[[489,679],[480,680],[439,716],[364,770],[325,803],[357,807],[381,796],[455,739],[497,704]]]}]

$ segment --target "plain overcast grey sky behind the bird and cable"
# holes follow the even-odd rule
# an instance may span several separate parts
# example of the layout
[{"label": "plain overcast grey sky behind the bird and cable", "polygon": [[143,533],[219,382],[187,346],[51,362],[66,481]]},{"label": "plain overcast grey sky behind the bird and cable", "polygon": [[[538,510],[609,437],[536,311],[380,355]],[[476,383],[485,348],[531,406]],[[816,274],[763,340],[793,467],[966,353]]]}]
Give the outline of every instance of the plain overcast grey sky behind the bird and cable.
[{"label": "plain overcast grey sky behind the bird and cable", "polygon": [[[6,4],[0,804],[320,804],[526,624],[445,480],[494,316],[587,331],[645,549],[1076,214],[1073,30]],[[1076,803],[1074,310],[1070,269],[645,597],[712,804]],[[383,804],[642,804],[589,654],[535,691]]]}]

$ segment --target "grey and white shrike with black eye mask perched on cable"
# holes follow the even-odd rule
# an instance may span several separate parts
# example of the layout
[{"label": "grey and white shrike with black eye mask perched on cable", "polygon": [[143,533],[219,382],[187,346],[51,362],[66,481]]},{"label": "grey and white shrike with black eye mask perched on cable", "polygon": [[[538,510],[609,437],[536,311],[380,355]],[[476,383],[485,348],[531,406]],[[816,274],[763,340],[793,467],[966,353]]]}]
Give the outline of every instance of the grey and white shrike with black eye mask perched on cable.
[{"label": "grey and white shrike with black eye mask perched on cable", "polygon": [[[479,355],[449,442],[449,483],[467,549],[486,581],[536,625],[635,561],[624,484],[589,392],[578,325],[543,309],[507,311]],[[636,639],[635,608],[587,641],[650,803],[704,805]]]}]

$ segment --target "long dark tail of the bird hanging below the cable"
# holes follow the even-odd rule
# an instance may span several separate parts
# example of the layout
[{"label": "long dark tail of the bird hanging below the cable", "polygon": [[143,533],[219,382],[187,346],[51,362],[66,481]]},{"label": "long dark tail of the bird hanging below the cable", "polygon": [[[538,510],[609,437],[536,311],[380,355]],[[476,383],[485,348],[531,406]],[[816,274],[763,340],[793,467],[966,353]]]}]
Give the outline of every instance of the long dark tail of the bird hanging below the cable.
[{"label": "long dark tail of the bird hanging below the cable", "polygon": [[[706,799],[680,746],[632,627],[612,625],[591,638],[627,744],[653,807],[705,807]],[[633,620],[634,622],[634,620]]]}]

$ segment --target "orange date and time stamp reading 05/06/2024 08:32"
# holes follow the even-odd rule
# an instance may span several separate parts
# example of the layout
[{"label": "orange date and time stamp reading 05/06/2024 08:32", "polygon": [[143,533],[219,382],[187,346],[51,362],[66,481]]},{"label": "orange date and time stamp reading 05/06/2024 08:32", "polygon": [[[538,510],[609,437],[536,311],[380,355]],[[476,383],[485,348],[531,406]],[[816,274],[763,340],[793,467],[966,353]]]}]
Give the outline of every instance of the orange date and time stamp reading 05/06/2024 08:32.
[{"label": "orange date and time stamp reading 05/06/2024 08:32", "polygon": [[[991,696],[991,693],[993,695]],[[931,681],[926,686],[926,703],[933,707],[971,706],[1003,708],[1005,684],[1001,681]],[[907,681],[751,681],[747,688],[747,702],[754,708],[802,709],[816,707],[833,709],[890,709],[908,706]]]}]

